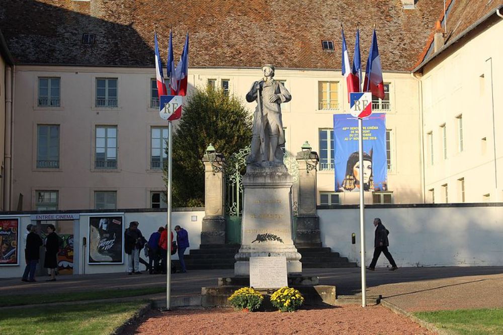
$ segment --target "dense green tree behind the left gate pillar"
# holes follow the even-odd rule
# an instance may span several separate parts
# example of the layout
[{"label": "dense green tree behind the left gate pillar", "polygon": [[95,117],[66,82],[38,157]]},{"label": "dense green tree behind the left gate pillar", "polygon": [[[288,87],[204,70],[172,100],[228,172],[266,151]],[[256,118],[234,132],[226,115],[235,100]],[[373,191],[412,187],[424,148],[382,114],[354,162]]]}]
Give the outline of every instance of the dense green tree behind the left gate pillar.
[{"label": "dense green tree behind the left gate pillar", "polygon": [[[223,90],[195,89],[173,133],[173,207],[204,206],[203,155],[208,144],[229,157],[249,145],[252,116]],[[164,165],[167,181],[167,164]]]}]

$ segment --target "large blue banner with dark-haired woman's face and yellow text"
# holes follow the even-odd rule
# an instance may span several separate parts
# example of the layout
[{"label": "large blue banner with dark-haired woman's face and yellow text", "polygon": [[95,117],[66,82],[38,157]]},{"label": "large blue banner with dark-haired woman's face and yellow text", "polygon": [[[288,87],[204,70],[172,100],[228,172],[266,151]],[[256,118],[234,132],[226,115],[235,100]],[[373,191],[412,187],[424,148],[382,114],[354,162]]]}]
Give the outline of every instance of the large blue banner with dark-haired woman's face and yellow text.
[{"label": "large blue banner with dark-haired woman's face and yellow text", "polygon": [[333,115],[333,145],[336,192],[387,191],[386,114],[363,119],[363,178],[360,177],[358,118]]}]

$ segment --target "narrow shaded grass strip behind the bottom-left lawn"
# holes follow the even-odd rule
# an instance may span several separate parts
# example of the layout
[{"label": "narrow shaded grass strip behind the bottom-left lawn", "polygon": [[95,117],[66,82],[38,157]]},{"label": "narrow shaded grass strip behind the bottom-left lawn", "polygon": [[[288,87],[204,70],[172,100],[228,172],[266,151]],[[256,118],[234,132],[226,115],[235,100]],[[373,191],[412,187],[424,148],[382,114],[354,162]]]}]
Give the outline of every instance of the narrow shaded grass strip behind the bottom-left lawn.
[{"label": "narrow shaded grass strip behind the bottom-left lawn", "polygon": [[99,290],[88,292],[4,295],[0,300],[0,307],[45,304],[51,302],[137,297],[162,292],[166,292],[165,287],[135,288],[133,290]]}]

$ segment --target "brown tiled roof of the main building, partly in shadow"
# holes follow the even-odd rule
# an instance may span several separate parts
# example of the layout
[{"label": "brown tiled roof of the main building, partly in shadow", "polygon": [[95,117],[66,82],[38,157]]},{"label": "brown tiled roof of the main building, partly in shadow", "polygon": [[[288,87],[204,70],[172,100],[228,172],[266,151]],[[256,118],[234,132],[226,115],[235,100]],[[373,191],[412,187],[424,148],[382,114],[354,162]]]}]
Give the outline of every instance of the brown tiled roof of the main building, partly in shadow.
[{"label": "brown tiled roof of the main building, partly in shadow", "polygon": [[[360,23],[364,63],[375,23],[383,69],[404,71],[442,12],[439,0],[419,0],[413,10],[403,10],[399,0],[2,0],[0,26],[21,64],[153,66],[155,23],[163,59],[170,27],[176,59],[190,28],[191,67],[272,62],[339,69],[341,23],[351,58]],[[96,34],[96,43],[83,45],[84,33]],[[322,51],[322,40],[333,40],[336,51]]]}]

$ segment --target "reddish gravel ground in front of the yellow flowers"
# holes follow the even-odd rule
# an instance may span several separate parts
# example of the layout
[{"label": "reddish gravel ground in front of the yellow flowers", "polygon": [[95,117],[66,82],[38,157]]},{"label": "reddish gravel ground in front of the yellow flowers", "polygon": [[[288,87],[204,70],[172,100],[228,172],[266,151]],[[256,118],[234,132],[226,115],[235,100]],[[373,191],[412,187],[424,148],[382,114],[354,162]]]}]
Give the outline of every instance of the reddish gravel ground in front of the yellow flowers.
[{"label": "reddish gravel ground in front of the yellow flowers", "polygon": [[149,311],[123,334],[432,334],[383,306],[348,305],[293,313],[230,308]]}]

